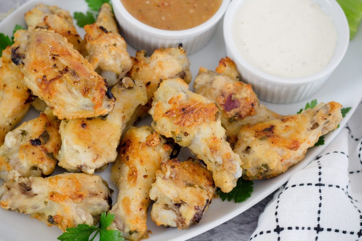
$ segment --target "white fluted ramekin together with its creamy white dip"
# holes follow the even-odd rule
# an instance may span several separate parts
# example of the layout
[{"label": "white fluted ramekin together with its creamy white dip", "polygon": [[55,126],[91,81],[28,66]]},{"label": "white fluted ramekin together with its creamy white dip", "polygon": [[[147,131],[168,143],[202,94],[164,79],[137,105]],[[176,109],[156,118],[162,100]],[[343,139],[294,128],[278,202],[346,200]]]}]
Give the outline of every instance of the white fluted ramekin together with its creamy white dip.
[{"label": "white fluted ramekin together with its creamy white dip", "polygon": [[327,81],[347,50],[349,28],[335,0],[233,0],[224,39],[260,99],[292,103]]}]

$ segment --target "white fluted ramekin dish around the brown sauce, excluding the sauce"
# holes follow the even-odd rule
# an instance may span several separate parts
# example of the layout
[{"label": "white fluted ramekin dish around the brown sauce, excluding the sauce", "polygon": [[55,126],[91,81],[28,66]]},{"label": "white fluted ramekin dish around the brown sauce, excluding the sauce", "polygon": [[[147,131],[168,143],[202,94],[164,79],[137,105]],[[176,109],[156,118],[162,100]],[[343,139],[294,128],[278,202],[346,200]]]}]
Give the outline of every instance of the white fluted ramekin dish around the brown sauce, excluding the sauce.
[{"label": "white fluted ramekin dish around the brown sauce, excluding the sauce", "polygon": [[148,26],[133,17],[121,0],[112,0],[114,15],[121,26],[121,35],[136,50],[152,53],[157,48],[182,46],[188,54],[205,46],[215,32],[216,25],[224,15],[230,0],[223,0],[220,8],[209,20],[186,30],[162,30]]}]

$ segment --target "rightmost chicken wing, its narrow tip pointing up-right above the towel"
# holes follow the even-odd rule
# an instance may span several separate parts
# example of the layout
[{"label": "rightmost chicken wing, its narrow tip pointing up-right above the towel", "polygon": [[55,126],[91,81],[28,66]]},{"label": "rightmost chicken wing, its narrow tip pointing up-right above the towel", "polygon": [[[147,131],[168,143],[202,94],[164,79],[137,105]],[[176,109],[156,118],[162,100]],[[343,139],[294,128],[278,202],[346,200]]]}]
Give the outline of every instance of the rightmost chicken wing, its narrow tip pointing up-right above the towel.
[{"label": "rightmost chicken wing, its narrow tip pointing up-right above the towel", "polygon": [[341,105],[320,103],[300,114],[284,116],[240,129],[234,151],[243,159],[243,178],[278,176],[304,158],[321,135],[337,128]]}]

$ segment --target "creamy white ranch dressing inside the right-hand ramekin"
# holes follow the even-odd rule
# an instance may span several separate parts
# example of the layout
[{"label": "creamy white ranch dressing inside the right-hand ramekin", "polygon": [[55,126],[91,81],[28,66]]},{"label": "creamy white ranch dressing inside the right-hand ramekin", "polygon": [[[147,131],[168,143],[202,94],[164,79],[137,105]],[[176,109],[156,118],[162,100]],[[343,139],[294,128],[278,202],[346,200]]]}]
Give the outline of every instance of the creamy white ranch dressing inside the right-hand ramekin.
[{"label": "creamy white ranch dressing inside the right-hand ramekin", "polygon": [[337,44],[332,19],[311,0],[246,0],[235,13],[232,35],[250,64],[286,78],[318,72]]}]

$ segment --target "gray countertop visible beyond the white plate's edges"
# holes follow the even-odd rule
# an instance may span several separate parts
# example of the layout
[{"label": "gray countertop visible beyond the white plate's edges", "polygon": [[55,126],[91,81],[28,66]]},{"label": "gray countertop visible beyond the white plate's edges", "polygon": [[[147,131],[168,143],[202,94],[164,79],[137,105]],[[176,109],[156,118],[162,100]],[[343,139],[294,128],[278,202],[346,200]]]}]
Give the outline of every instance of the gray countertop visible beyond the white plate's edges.
[{"label": "gray countertop visible beyond the white plate's edges", "polygon": [[[15,9],[26,1],[28,0],[0,0],[0,14],[7,13],[10,9]],[[249,240],[249,237],[258,224],[260,213],[264,210],[264,207],[268,204],[272,197],[272,194],[269,195],[242,214],[237,215],[235,218],[230,219],[229,221],[226,221],[225,223],[205,233],[189,239],[189,241]]]}]

